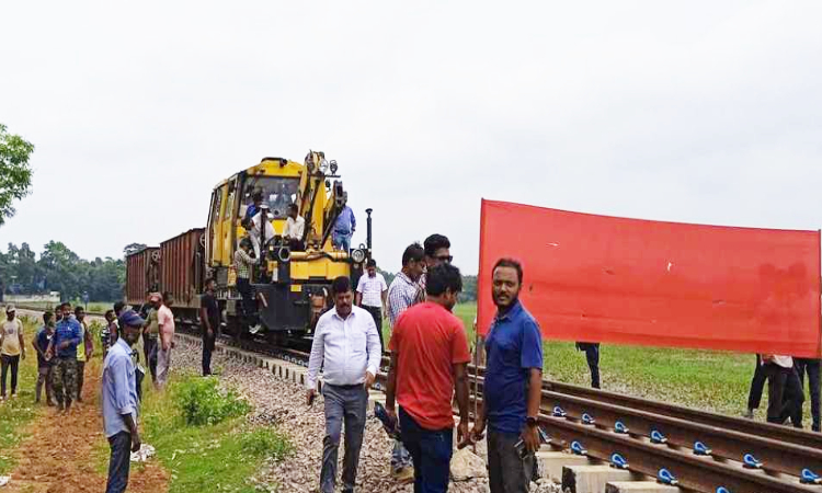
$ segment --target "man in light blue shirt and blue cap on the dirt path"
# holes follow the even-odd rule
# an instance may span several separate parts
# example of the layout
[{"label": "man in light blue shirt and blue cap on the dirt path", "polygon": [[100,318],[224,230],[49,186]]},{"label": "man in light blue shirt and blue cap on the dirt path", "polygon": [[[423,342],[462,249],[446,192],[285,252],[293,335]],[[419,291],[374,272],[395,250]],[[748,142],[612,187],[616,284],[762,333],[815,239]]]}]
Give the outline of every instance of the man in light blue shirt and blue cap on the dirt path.
[{"label": "man in light blue shirt and blue cap on the dirt path", "polygon": [[137,432],[137,379],[132,362],[132,346],[145,324],[137,313],[126,310],[119,317],[121,337],[103,363],[103,427],[111,447],[106,493],[123,493],[128,485],[133,451],[140,449]]}]

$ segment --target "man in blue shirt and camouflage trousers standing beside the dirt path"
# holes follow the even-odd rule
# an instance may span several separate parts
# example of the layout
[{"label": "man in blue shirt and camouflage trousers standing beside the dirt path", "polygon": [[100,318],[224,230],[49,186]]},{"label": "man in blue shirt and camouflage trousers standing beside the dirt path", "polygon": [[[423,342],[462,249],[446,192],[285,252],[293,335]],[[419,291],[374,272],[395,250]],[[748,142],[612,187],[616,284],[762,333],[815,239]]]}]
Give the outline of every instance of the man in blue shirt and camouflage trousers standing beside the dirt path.
[{"label": "man in blue shirt and camouflage trousers standing beside the dirt path", "polygon": [[77,395],[77,345],[82,342],[80,324],[71,317],[71,303],[62,303],[62,319],[55,328],[47,355],[57,357],[53,369],[53,390],[58,411],[69,411]]}]

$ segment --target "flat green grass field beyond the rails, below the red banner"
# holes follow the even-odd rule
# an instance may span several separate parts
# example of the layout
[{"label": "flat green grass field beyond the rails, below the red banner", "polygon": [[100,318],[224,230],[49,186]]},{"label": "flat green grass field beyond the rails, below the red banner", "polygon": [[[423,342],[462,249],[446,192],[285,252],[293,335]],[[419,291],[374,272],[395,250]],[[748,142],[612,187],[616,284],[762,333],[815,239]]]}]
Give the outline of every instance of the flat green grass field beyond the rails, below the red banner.
[{"label": "flat green grass field beyond the rails, below the red banner", "polygon": [[[473,344],[476,303],[454,309]],[[388,323],[384,335],[388,335]],[[387,341],[387,339],[386,339]],[[591,382],[585,354],[572,342],[546,340],[543,344],[546,378],[587,386]],[[700,349],[603,345],[600,369],[603,388],[692,408],[740,415],[745,411],[755,358],[750,354]],[[758,415],[764,417],[767,400]],[[810,408],[806,403],[806,423]]]}]

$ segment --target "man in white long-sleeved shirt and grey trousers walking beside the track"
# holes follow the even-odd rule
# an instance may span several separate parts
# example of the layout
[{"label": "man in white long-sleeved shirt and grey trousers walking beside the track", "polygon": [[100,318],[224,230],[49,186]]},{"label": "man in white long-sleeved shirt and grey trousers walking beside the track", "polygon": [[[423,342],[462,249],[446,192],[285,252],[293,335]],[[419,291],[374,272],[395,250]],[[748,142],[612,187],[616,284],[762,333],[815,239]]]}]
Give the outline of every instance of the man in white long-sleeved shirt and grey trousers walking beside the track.
[{"label": "man in white long-sleeved shirt and grey trousers walking beside the track", "polygon": [[368,389],[383,357],[379,335],[370,314],[353,306],[351,279],[338,277],[331,285],[334,309],[317,322],[308,360],[307,398],[311,405],[317,394],[317,374],[322,372],[326,403],[326,437],[322,440],[320,491],[333,493],[336,483],[336,452],[345,420],[343,493],[354,491],[359,448],[365,432]]}]

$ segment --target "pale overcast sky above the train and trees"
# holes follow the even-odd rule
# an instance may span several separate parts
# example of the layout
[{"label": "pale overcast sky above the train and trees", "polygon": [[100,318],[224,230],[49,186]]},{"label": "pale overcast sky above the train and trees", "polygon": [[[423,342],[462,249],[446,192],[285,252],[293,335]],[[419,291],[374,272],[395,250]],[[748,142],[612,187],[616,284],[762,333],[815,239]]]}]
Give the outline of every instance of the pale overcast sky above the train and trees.
[{"label": "pale overcast sky above the train and trees", "polygon": [[309,149],[389,271],[441,232],[476,273],[482,197],[822,227],[819,1],[2,3],[0,122],[36,146],[3,251],[158,244]]}]

